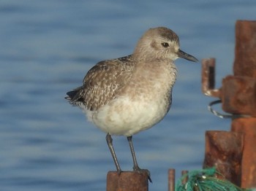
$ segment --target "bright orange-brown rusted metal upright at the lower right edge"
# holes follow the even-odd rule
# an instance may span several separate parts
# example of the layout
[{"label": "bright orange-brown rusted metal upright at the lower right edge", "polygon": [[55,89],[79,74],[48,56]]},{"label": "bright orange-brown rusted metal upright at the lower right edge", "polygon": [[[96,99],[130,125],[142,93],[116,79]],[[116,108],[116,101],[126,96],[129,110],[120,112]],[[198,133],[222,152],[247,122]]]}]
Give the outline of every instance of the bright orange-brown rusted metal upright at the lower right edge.
[{"label": "bright orange-brown rusted metal upright at the lower right edge", "polygon": [[241,163],[241,187],[256,185],[256,118],[238,118],[232,121],[231,130],[244,134],[244,152]]}]

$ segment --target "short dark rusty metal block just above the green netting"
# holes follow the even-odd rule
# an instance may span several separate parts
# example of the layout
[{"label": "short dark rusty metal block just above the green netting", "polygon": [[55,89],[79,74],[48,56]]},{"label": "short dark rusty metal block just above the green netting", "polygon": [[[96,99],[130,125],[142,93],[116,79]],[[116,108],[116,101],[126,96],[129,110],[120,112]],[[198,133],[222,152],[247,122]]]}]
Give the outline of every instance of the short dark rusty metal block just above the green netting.
[{"label": "short dark rusty metal block just above the green netting", "polygon": [[221,130],[206,131],[206,154],[203,168],[213,167],[222,174],[219,179],[228,179],[241,185],[241,160],[243,140],[241,133]]}]

